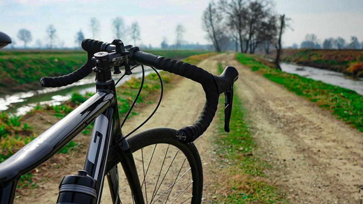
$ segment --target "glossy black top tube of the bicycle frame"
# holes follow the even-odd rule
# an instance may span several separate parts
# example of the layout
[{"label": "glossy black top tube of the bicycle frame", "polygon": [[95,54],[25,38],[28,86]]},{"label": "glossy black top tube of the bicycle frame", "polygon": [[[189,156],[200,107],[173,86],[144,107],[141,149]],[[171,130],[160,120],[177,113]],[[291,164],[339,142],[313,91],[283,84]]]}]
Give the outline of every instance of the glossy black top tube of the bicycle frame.
[{"label": "glossy black top tube of the bicycle frame", "polygon": [[112,91],[111,93],[97,92],[61,121],[1,163],[0,186],[5,187],[12,180],[18,179],[51,158],[114,103],[115,97]]}]

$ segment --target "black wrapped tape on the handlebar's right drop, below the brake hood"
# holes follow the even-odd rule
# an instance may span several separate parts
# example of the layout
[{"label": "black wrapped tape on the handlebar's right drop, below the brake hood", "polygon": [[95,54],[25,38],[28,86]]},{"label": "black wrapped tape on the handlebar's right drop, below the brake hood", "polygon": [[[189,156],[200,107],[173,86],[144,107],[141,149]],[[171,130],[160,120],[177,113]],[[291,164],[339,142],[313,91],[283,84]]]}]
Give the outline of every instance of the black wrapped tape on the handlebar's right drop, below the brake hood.
[{"label": "black wrapped tape on the handlebar's right drop, below the brake hood", "polygon": [[155,68],[186,77],[203,86],[207,101],[199,118],[193,125],[180,128],[177,134],[180,142],[193,142],[207,130],[217,111],[219,93],[213,74],[195,65],[165,57],[158,57]]}]

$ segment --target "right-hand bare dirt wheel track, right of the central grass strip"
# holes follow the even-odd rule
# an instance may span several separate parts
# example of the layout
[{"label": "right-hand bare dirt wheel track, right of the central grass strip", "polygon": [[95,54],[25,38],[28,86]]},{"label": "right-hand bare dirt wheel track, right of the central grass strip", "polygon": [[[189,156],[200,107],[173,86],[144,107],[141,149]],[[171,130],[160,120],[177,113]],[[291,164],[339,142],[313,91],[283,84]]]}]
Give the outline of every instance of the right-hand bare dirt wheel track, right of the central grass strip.
[{"label": "right-hand bare dirt wheel track, right of the central grass strip", "polygon": [[253,137],[273,168],[266,172],[291,203],[362,203],[362,133],[284,87],[242,67],[236,93]]}]

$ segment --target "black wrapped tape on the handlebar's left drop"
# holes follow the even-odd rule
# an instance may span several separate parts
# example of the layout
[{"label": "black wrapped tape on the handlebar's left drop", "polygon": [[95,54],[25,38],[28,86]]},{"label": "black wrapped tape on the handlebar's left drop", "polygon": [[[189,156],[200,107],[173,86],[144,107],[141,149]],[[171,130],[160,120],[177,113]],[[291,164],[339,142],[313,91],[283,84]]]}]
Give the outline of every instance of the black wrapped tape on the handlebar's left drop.
[{"label": "black wrapped tape on the handlebar's left drop", "polygon": [[60,77],[43,77],[40,79],[40,85],[43,87],[61,87],[70,85],[74,82],[77,82],[84,77],[88,76],[92,72],[92,68],[94,67],[94,63],[91,62],[91,58],[93,54],[96,52],[101,52],[106,50],[109,46],[109,43],[105,43],[98,40],[85,39],[82,41],[83,50],[87,51],[87,62],[81,68],[76,71],[60,76]]}]

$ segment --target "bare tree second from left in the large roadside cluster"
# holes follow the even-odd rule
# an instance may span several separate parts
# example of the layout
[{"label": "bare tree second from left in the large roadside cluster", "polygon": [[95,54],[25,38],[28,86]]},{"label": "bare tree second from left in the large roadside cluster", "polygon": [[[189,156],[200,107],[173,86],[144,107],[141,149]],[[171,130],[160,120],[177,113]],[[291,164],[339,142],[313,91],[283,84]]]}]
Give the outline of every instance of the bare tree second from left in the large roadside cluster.
[{"label": "bare tree second from left in the large roadside cluster", "polygon": [[245,0],[220,0],[219,8],[225,14],[227,25],[231,30],[236,30],[240,42],[240,49],[243,52],[243,30],[245,28],[244,8]]}]

